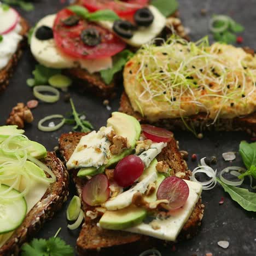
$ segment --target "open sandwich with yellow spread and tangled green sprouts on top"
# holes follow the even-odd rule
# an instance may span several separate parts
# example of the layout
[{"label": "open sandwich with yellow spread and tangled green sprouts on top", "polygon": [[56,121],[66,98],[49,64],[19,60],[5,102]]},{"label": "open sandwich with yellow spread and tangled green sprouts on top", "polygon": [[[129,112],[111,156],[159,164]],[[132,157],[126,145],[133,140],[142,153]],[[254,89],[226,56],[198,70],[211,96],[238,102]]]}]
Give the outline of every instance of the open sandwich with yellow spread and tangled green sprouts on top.
[{"label": "open sandwich with yellow spread and tangled green sprouts on top", "polygon": [[232,45],[171,37],[124,69],[120,111],[167,129],[256,132],[256,57]]}]

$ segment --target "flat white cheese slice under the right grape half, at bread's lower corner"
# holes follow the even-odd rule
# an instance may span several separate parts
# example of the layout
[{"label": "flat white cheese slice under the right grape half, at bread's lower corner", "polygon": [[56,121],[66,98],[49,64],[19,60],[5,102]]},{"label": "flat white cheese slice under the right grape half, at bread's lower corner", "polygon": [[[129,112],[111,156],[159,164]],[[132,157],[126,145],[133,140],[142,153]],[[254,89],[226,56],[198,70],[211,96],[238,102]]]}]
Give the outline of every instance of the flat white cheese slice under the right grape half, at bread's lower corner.
[{"label": "flat white cheese slice under the right grape half, at bread's lower corner", "polygon": [[184,180],[189,186],[189,197],[185,205],[172,213],[167,219],[155,219],[154,224],[159,226],[159,229],[153,229],[150,224],[141,223],[125,231],[153,236],[161,240],[176,241],[179,232],[184,224],[189,219],[193,212],[196,203],[198,202],[202,186],[199,183]]}]

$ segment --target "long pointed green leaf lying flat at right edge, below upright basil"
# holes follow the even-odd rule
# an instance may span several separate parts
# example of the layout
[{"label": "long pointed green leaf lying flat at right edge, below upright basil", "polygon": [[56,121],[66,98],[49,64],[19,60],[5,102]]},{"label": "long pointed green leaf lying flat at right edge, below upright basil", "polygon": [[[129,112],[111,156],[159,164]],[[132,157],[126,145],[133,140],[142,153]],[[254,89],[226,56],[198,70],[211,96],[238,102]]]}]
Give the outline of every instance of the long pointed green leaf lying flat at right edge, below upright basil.
[{"label": "long pointed green leaf lying flat at right edge, below upright basil", "polygon": [[237,188],[235,186],[230,186],[225,184],[224,182],[220,181],[217,178],[217,181],[224,190],[229,193],[232,200],[236,201],[247,211],[256,212],[256,196],[255,193],[249,192],[248,189]]}]

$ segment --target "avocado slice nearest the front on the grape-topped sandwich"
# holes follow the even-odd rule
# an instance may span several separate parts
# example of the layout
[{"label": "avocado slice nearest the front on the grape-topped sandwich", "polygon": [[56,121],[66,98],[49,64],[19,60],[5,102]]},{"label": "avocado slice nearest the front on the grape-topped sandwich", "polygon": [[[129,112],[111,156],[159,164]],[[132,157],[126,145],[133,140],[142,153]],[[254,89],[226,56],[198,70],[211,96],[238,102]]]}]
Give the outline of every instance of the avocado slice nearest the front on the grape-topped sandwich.
[{"label": "avocado slice nearest the front on the grape-topped sandwich", "polygon": [[142,223],[146,216],[144,208],[130,205],[121,210],[105,212],[100,219],[100,226],[103,229],[123,230]]}]

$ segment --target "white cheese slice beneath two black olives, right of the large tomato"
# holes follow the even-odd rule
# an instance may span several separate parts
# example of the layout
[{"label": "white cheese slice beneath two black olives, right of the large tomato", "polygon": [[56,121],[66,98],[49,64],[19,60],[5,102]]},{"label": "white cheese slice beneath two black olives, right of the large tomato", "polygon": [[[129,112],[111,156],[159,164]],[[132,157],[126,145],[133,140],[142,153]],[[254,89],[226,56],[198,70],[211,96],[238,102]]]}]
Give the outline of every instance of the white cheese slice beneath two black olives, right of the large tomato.
[{"label": "white cheese slice beneath two black olives, right of the large tomato", "polygon": [[[152,11],[152,14],[154,15],[154,21],[153,23],[148,27],[139,27],[138,30],[136,30],[130,39],[125,39],[122,37],[122,39],[132,46],[139,47],[143,44],[149,43],[152,39],[154,39],[158,34],[161,33],[161,31],[164,29],[166,24],[166,18],[164,15],[160,13],[160,11],[155,8],[153,5],[149,5],[148,7],[150,11]],[[98,24],[100,24],[102,27],[107,28],[108,30],[113,32],[113,24],[114,22],[111,21],[98,21]]]}]

